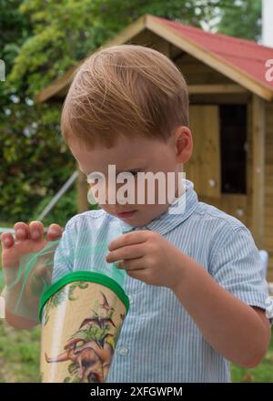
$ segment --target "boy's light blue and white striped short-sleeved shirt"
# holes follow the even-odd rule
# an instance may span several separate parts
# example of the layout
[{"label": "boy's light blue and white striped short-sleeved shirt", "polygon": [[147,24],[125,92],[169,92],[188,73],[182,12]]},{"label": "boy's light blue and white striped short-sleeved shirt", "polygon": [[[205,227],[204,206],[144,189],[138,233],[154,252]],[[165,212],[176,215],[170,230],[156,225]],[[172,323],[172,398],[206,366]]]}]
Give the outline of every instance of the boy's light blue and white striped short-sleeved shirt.
[{"label": "boy's light blue and white striped short-sleeved shirt", "polygon": [[[74,216],[56,250],[54,281],[75,270],[107,272],[107,243],[126,231],[153,230],[199,262],[228,292],[265,309],[267,286],[261,279],[262,261],[250,231],[235,217],[198,201],[191,181],[184,184],[185,210],[181,203],[181,213],[171,214],[175,203],[171,204],[143,227],[132,228],[103,210]],[[86,256],[77,252],[83,244],[100,246]],[[229,363],[207,343],[175,293],[128,275],[124,288],[131,304],[108,383],[230,380]]]}]

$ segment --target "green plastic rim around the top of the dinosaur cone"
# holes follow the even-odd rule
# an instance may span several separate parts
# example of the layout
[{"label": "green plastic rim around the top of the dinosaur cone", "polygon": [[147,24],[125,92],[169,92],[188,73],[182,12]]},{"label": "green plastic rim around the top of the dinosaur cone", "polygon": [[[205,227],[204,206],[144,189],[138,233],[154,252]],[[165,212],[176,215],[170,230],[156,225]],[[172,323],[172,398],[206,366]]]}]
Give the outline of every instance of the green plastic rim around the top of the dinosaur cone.
[{"label": "green plastic rim around the top of the dinosaur cone", "polygon": [[65,287],[68,283],[73,282],[89,282],[89,283],[97,283],[104,285],[105,287],[109,288],[110,290],[116,293],[116,296],[120,299],[122,303],[124,303],[126,307],[126,312],[128,312],[130,307],[129,298],[127,297],[124,289],[116,283],[115,280],[111,279],[110,277],[102,274],[100,272],[86,272],[86,271],[77,271],[77,272],[70,272],[59,279],[56,283],[47,287],[45,293],[42,294],[40,298],[39,304],[39,321],[42,322],[42,314],[45,303],[54,295],[57,291],[59,291],[62,287]]}]

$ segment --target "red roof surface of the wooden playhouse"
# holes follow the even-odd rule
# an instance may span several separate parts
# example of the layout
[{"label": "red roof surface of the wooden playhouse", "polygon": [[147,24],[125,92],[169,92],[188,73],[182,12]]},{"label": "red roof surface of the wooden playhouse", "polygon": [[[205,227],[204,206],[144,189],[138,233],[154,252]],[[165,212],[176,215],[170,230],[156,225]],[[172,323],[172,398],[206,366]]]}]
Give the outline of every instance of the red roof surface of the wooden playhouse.
[{"label": "red roof surface of the wooden playhouse", "polygon": [[273,60],[273,47],[262,46],[254,41],[238,37],[213,34],[194,26],[186,26],[158,16],[154,16],[154,18],[157,18],[161,24],[175,29],[185,39],[188,38],[204,50],[213,52],[217,57],[222,58],[234,67],[247,73],[248,76],[254,78],[259,83],[273,89],[273,80],[269,82],[266,79],[266,72],[268,70],[266,61],[268,59]]}]

